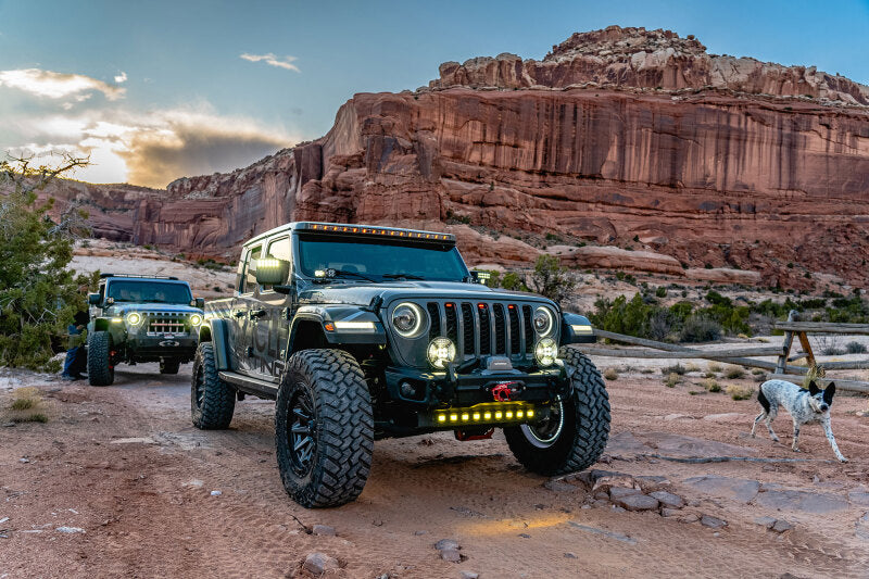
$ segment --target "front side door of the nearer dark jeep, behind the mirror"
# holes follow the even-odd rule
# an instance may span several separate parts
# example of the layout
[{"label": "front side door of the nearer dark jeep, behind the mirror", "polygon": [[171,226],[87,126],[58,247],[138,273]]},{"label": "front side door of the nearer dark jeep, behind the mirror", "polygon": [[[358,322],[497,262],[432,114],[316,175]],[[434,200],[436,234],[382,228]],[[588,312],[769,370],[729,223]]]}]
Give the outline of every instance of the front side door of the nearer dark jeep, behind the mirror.
[{"label": "front side door of the nearer dark jeep, behind the mirror", "polygon": [[[265,246],[263,255],[291,263],[290,234],[277,234]],[[287,284],[287,279],[282,284]],[[250,368],[259,378],[279,378],[289,341],[289,307],[291,298],[274,290],[270,285],[259,286],[256,303],[249,313],[252,338]]]}]

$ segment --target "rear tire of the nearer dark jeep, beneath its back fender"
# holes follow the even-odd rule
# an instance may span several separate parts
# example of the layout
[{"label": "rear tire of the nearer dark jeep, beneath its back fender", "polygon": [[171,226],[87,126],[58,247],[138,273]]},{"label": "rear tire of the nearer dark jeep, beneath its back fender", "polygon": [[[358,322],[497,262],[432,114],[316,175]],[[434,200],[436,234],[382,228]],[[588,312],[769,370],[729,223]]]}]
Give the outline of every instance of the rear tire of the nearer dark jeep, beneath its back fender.
[{"label": "rear tire of the nearer dark jeep, beneath its back fender", "polygon": [[202,342],[193,358],[190,415],[202,430],[229,428],[236,411],[236,389],[221,379],[214,364],[214,344]]}]

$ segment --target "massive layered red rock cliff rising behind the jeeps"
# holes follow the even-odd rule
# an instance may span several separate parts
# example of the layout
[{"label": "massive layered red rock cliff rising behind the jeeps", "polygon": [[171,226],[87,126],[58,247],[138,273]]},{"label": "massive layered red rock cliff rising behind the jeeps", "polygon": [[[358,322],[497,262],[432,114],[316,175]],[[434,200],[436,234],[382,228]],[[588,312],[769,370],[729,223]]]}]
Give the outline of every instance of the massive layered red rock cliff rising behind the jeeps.
[{"label": "massive layered red rock cliff rising behind the jeeps", "polygon": [[[747,269],[797,288],[827,272],[865,287],[867,95],[814,68],[610,27],[541,62],[446,63],[430,88],[356,95],[314,142],[121,194],[134,206],[117,223],[140,244],[229,260],[291,219],[426,224],[457,230],[486,263],[530,261],[539,250],[519,238],[550,232],[589,244],[564,254],[582,267]],[[99,190],[108,215],[119,202]]]}]

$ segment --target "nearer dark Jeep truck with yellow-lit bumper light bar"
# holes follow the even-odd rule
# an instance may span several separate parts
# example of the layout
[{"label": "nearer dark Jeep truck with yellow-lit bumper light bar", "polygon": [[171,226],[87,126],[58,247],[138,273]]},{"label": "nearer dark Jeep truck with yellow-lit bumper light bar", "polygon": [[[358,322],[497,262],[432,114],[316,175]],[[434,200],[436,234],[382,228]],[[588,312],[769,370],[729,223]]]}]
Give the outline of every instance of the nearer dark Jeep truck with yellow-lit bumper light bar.
[{"label": "nearer dark Jeep truck with yellow-lit bumper light bar", "polygon": [[378,438],[502,428],[534,473],[587,468],[609,432],[601,374],[567,348],[594,341],[589,320],[478,277],[449,234],[291,223],[251,239],[236,295],[205,305],[193,424],[277,400],[278,468],[306,507],[355,500]]}]

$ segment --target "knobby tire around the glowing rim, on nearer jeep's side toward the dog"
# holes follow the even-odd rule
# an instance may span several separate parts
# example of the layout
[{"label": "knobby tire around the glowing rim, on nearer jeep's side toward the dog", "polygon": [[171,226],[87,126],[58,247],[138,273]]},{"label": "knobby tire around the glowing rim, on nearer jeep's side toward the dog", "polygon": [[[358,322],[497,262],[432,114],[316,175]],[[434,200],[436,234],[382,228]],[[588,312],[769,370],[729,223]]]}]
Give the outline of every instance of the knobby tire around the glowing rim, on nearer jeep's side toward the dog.
[{"label": "knobby tire around the glowing rim, on nearer jeep's side toward the dog", "polygon": [[574,393],[562,401],[564,424],[549,446],[536,445],[528,429],[504,429],[509,450],[527,469],[552,476],[583,470],[597,462],[609,438],[609,397],[601,372],[575,348],[563,348],[562,357],[572,369]]}]

